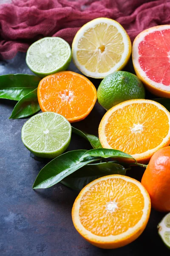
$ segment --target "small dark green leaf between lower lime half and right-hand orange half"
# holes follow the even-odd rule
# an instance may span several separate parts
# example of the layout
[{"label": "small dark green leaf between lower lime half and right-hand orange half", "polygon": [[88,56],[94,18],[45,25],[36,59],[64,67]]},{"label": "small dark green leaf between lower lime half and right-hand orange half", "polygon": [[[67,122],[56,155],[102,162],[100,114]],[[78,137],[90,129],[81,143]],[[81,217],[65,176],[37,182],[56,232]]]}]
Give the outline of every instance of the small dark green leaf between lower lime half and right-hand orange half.
[{"label": "small dark green leaf between lower lime half and right-hand orange half", "polygon": [[88,134],[84,131],[80,131],[77,128],[72,127],[72,132],[74,132],[75,134],[83,137],[85,140],[88,140],[91,143],[91,146],[93,148],[102,148],[102,145],[99,141],[99,138],[97,138],[96,136],[92,135],[92,134]]}]

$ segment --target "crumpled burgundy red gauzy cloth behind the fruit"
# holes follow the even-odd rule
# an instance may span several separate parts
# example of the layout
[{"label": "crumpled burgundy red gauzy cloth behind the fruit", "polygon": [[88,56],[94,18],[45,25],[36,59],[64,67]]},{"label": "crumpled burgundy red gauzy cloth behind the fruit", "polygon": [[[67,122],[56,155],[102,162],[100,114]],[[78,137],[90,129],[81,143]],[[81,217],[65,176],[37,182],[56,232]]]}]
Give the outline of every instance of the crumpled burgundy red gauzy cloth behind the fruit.
[{"label": "crumpled burgundy red gauzy cloth behind the fruit", "polygon": [[117,20],[131,41],[144,29],[170,24],[170,0],[14,0],[0,5],[0,55],[13,58],[34,41],[59,36],[70,45],[97,17]]}]

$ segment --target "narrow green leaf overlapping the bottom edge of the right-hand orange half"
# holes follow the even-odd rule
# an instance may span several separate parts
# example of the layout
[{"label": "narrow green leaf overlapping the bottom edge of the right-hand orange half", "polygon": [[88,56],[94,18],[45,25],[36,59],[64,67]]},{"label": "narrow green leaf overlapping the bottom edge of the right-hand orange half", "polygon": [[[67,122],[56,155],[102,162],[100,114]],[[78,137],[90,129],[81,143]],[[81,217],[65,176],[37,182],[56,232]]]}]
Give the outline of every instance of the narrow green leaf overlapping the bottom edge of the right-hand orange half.
[{"label": "narrow green leaf overlapping the bottom edge of the right-hand orange half", "polygon": [[[122,151],[116,150],[116,149],[108,149],[108,148],[96,148],[96,149],[91,149],[87,151],[81,159],[85,159],[86,157],[103,157],[103,158],[108,158],[108,157],[123,157],[123,158],[131,158],[135,160],[132,156],[129,154],[126,154]],[[80,160],[81,160],[80,159]],[[135,160],[136,162],[136,160]]]}]

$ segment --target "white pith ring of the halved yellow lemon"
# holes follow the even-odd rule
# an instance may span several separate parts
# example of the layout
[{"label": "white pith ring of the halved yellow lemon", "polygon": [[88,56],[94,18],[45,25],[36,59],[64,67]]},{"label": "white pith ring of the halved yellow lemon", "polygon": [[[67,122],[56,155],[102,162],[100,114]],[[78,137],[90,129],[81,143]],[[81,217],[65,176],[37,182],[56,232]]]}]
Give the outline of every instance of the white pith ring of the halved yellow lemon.
[{"label": "white pith ring of the halved yellow lemon", "polygon": [[[109,70],[108,72],[105,72],[105,73],[91,72],[91,71],[87,70],[85,68],[85,66],[79,64],[79,61],[77,60],[77,50],[78,50],[77,44],[78,44],[80,38],[83,37],[83,34],[84,34],[84,32],[86,32],[87,29],[89,29],[89,28],[91,28],[91,27],[93,27],[93,26],[95,26],[99,23],[107,23],[108,25],[115,26],[122,35],[123,42],[124,42],[124,47],[125,47],[124,52],[122,53],[121,60],[114,67],[112,67],[111,70]],[[96,51],[101,52],[99,47],[96,48]],[[111,20],[111,19],[108,19],[108,18],[98,18],[98,19],[91,20],[90,22],[86,23],[77,32],[77,34],[74,38],[73,44],[72,44],[72,56],[73,56],[73,60],[74,60],[75,65],[85,75],[90,76],[90,77],[96,77],[96,78],[104,78],[105,76],[108,76],[109,74],[113,73],[114,71],[119,70],[119,67],[121,67],[125,63],[125,60],[126,60],[128,54],[129,54],[129,51],[130,51],[130,42],[128,40],[127,33],[125,32],[125,30],[123,29],[123,27],[119,23],[117,23],[115,20]]]}]

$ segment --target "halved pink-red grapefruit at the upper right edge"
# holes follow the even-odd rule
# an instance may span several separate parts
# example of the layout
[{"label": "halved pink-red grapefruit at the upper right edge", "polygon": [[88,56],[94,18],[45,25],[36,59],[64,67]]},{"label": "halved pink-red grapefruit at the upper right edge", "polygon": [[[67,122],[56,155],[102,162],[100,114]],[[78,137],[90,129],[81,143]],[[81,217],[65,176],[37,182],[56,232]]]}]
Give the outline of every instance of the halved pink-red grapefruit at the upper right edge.
[{"label": "halved pink-red grapefruit at the upper right edge", "polygon": [[170,98],[170,25],[141,32],[132,47],[136,75],[151,93]]}]

